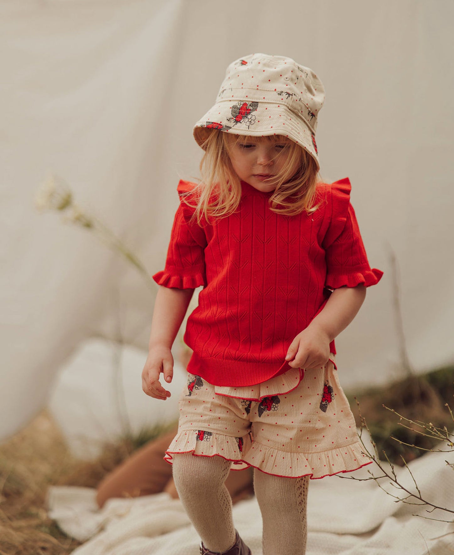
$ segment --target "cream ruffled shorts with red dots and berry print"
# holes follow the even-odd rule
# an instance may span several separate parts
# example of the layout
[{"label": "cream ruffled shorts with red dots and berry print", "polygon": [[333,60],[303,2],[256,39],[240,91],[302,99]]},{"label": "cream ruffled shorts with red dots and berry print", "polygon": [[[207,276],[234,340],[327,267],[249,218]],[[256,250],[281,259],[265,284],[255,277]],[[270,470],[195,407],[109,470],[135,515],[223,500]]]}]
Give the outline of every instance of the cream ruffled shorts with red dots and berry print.
[{"label": "cream ruffled shorts with red dots and berry print", "polygon": [[249,387],[219,387],[188,375],[179,399],[178,433],[165,453],[232,461],[276,476],[312,479],[350,472],[371,461],[362,453],[354,416],[333,359],[292,369]]}]

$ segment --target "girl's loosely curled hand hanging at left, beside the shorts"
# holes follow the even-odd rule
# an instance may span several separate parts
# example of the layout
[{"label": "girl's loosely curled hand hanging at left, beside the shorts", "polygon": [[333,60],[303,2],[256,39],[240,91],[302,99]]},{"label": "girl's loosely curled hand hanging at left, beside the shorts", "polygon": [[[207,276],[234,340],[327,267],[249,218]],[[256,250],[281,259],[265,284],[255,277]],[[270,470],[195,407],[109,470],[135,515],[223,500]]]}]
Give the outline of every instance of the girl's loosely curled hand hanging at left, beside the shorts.
[{"label": "girl's loosely curled hand hanging at left, beside the shorts", "polygon": [[147,395],[165,401],[170,397],[170,391],[164,389],[159,382],[159,375],[163,372],[164,380],[170,384],[173,377],[173,356],[169,347],[157,345],[150,348],[147,361],[142,370],[142,389]]}]

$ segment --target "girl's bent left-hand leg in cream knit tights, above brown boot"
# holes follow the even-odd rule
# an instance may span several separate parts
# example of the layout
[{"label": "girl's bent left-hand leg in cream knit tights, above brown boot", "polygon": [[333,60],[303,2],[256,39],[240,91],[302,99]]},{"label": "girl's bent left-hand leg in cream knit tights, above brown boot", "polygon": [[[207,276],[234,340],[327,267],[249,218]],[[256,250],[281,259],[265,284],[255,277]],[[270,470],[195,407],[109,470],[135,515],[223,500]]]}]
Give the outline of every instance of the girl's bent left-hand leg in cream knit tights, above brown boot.
[{"label": "girl's bent left-hand leg in cream knit tights, above brown boot", "polygon": [[204,546],[228,551],[235,543],[231,497],[225,487],[230,461],[192,453],[173,455],[176,490]]}]

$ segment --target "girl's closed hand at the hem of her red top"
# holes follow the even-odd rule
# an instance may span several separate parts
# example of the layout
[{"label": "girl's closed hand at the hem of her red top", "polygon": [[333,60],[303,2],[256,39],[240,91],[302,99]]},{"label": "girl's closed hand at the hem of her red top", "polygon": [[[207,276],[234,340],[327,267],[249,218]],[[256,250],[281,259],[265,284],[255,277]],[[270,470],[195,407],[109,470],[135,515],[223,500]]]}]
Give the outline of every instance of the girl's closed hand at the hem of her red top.
[{"label": "girl's closed hand at the hem of her red top", "polygon": [[285,360],[292,368],[318,368],[330,357],[330,338],[321,328],[310,324],[291,342]]}]

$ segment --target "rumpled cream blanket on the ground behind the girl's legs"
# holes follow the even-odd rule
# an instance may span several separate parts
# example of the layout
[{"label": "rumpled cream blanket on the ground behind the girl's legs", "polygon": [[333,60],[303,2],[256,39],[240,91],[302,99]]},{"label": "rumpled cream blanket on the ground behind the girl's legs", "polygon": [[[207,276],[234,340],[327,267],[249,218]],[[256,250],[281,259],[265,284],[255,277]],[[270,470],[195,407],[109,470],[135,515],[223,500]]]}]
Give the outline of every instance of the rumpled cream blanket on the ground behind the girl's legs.
[{"label": "rumpled cream blanket on the ground behind the girl's legs", "polygon": [[[409,467],[423,498],[454,510],[454,471],[443,453],[428,453]],[[345,476],[365,478],[375,464]],[[411,491],[413,478],[396,470]],[[380,485],[402,494],[382,480]],[[402,496],[402,495],[401,495]],[[85,543],[74,555],[198,555],[199,537],[179,499],[167,493],[135,499],[110,499],[102,510],[95,490],[51,487],[49,515],[69,536]],[[422,518],[423,516],[431,519]],[[375,481],[337,476],[313,480],[309,487],[307,555],[452,555],[454,514],[427,506],[395,502]],[[438,519],[438,520],[432,520]],[[255,498],[234,506],[240,536],[254,555],[262,555],[261,517]],[[281,554],[276,554],[281,555]],[[291,555],[291,554],[289,554]]]}]

